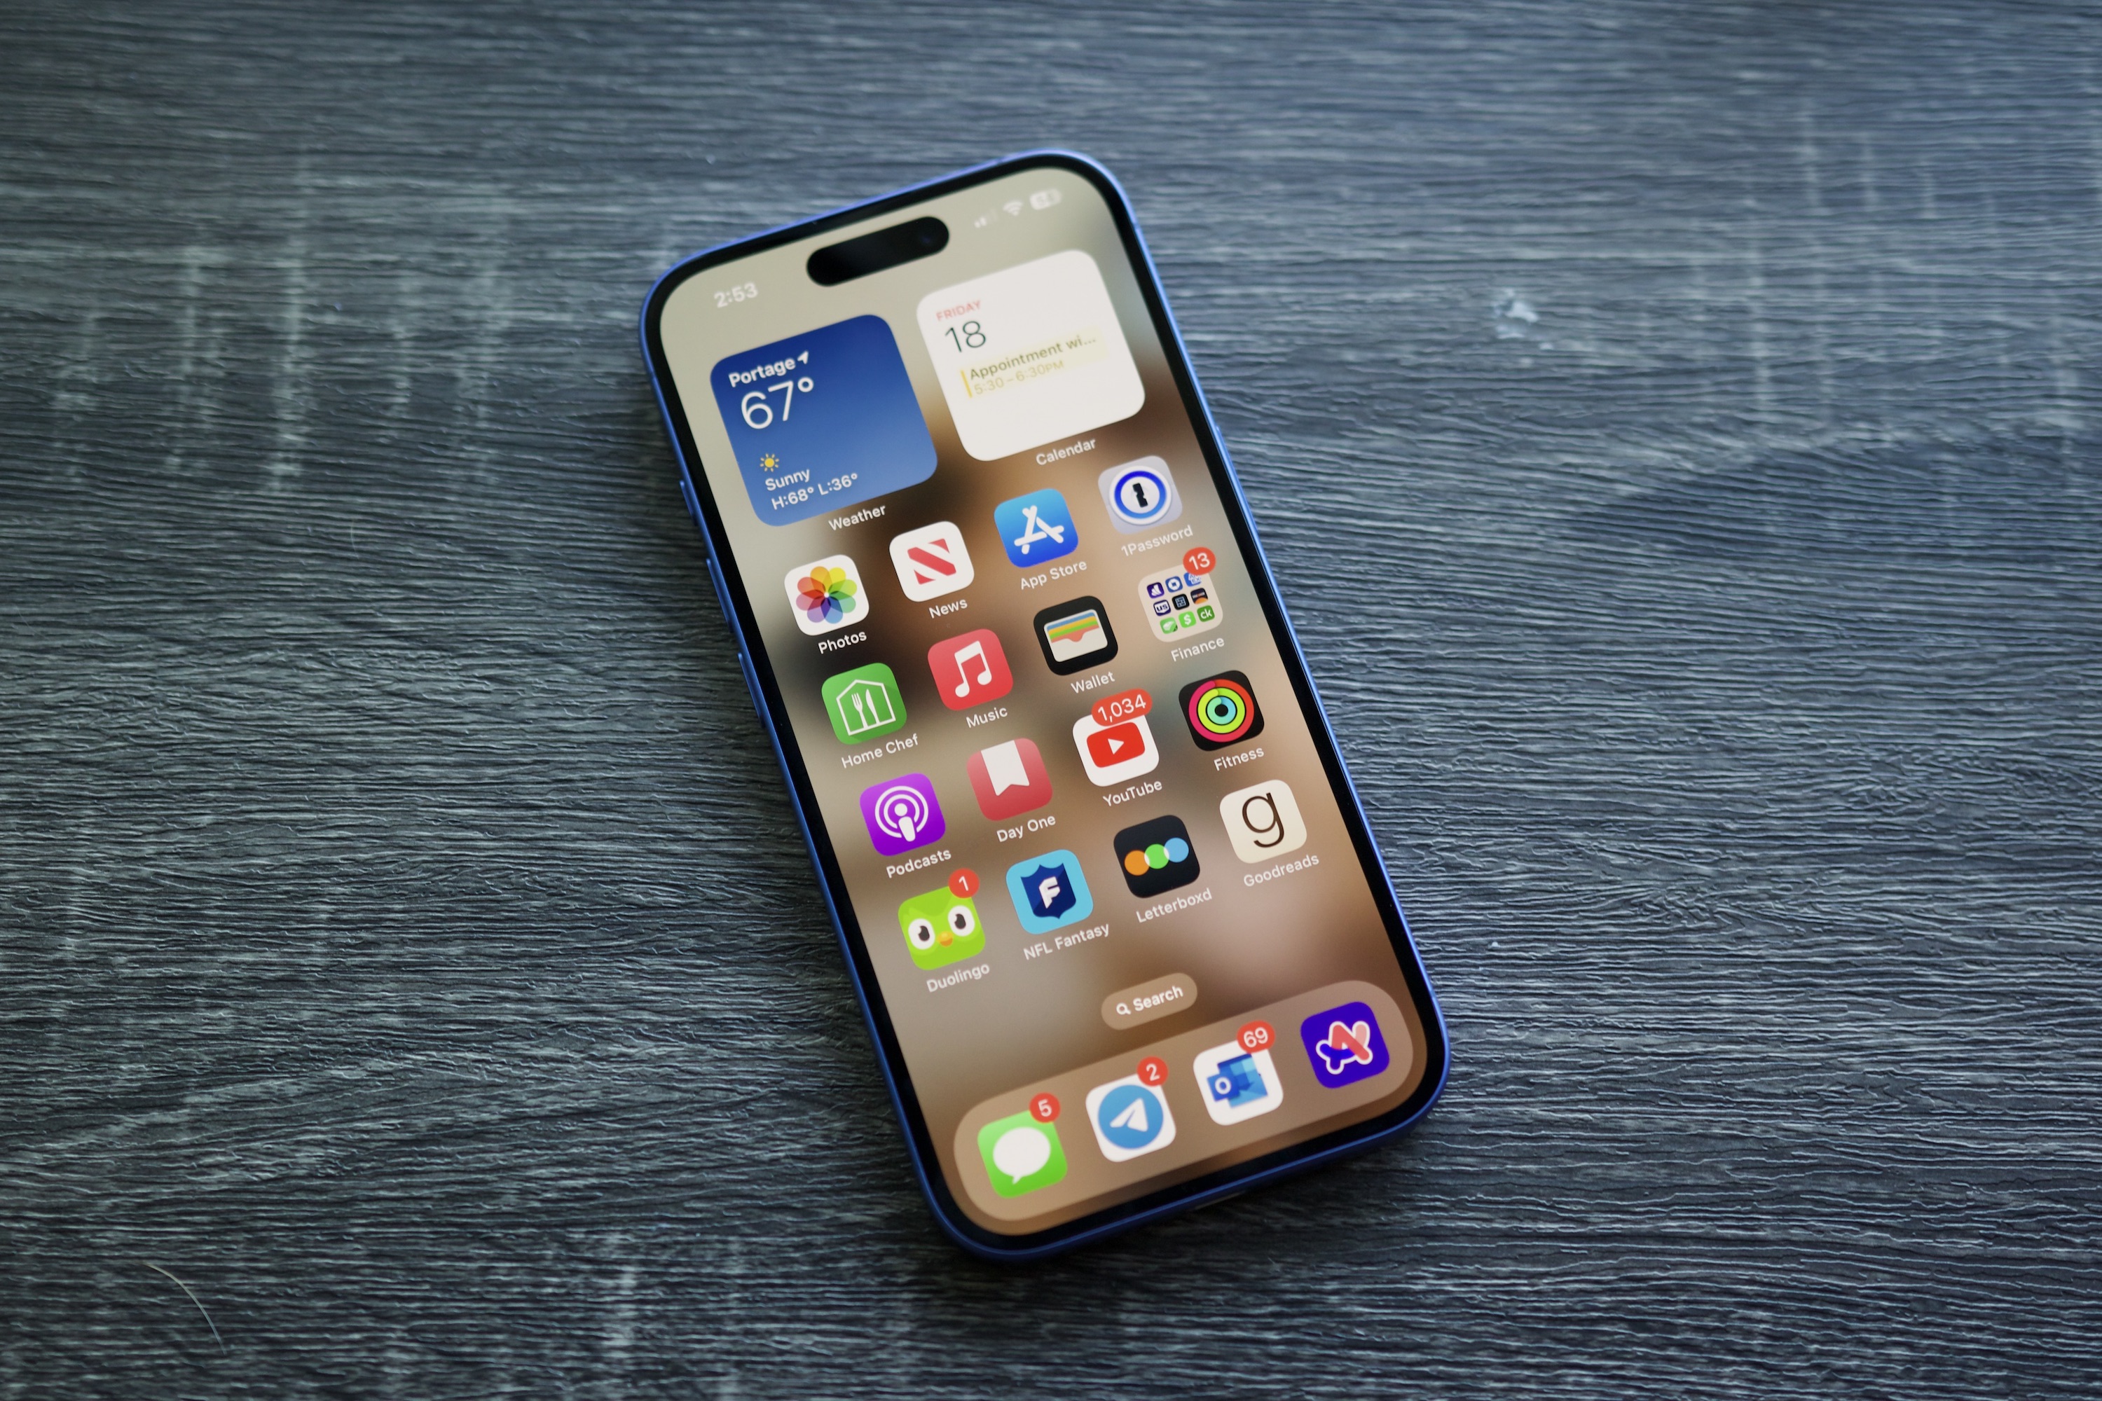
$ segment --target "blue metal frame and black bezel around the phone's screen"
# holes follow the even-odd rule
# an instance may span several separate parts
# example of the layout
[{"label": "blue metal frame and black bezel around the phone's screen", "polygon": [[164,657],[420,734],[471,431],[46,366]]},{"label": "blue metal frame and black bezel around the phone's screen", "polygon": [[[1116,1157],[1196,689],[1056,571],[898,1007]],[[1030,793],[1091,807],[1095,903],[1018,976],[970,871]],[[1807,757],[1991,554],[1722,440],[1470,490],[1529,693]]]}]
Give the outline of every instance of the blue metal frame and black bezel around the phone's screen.
[{"label": "blue metal frame and black bezel around the phone's screen", "polygon": [[[904,210],[933,195],[967,189],[1017,170],[1040,166],[1070,170],[1104,193],[1104,200],[1116,218],[1118,235],[1125,242],[1125,252],[1129,254],[1133,269],[1139,271],[1139,288],[1146,294],[1146,309],[1152,315],[1154,330],[1167,351],[1169,368],[1175,374],[1175,386],[1181,391],[1183,405],[1190,410],[1192,426],[1196,428],[1198,441],[1204,449],[1204,460],[1211,464],[1213,481],[1225,502],[1225,513],[1234,527],[1234,540],[1244,559],[1251,561],[1249,573],[1253,576],[1255,592],[1261,599],[1263,615],[1270,622],[1272,634],[1280,643],[1278,651],[1282,653],[1284,670],[1293,678],[1293,691],[1301,708],[1312,716],[1310,729],[1314,733],[1314,744],[1320,750],[1322,767],[1339,798],[1352,844],[1356,846],[1360,865],[1373,886],[1373,899],[1379,903],[1381,916],[1387,922],[1387,933],[1394,939],[1394,952],[1408,981],[1417,1015],[1423,1019],[1427,1071],[1406,1101],[1360,1124],[1295,1143],[1278,1149],[1276,1153],[1234,1164],[1232,1168],[1221,1168],[1219,1172],[1202,1178],[1165,1187],[1146,1197],[1120,1201],[1047,1231],[1036,1231],[1032,1235],[998,1235],[982,1229],[963,1214],[935,1166],[937,1157],[933,1138],[927,1130],[925,1115],[921,1115],[919,1099],[912,1094],[904,1050],[898,1044],[889,1012],[883,1004],[881,985],[877,983],[860,922],[853,918],[851,901],[847,901],[845,880],[841,878],[839,863],[832,857],[830,842],[818,828],[811,825],[811,813],[818,811],[816,792],[811,790],[809,777],[803,769],[801,748],[795,744],[795,735],[788,729],[788,712],[774,681],[765,647],[759,643],[759,624],[753,613],[750,594],[746,592],[736,559],[729,552],[729,540],[723,531],[715,496],[708,492],[708,481],[696,471],[700,449],[687,428],[685,405],[679,399],[679,386],[673,382],[671,365],[664,357],[660,317],[671,292],[687,277],[710,267],[761,252],[776,244],[860,223],[889,210]],[[1225,454],[1225,443],[1219,437],[1219,424],[1213,422],[1211,405],[1198,389],[1196,372],[1190,368],[1190,353],[1183,347],[1181,332],[1175,328],[1175,317],[1169,313],[1167,296],[1160,290],[1160,275],[1154,269],[1154,258],[1146,250],[1146,239],[1139,235],[1131,202],[1125,197],[1116,176],[1112,176],[1097,162],[1074,151],[1024,151],[1019,155],[1007,155],[954,174],[944,174],[935,181],[908,185],[862,204],[818,214],[816,218],[805,218],[778,229],[767,229],[765,233],[734,239],[729,244],[704,248],[702,252],[677,263],[671,271],[658,277],[656,286],[650,288],[650,296],[643,300],[641,313],[641,342],[643,361],[650,368],[650,380],[656,389],[658,407],[664,412],[664,426],[671,433],[673,452],[679,460],[679,492],[685,496],[685,506],[692,513],[694,523],[700,527],[702,544],[708,550],[708,578],[715,582],[715,597],[723,607],[723,618],[729,622],[729,632],[738,641],[738,666],[744,670],[744,685],[750,689],[753,706],[759,710],[759,723],[765,725],[767,739],[774,744],[774,758],[780,760],[782,777],[788,779],[788,798],[795,807],[795,819],[803,832],[805,844],[809,846],[811,863],[818,867],[818,888],[824,893],[826,912],[832,916],[832,933],[839,935],[839,947],[847,960],[847,973],[853,979],[853,996],[860,1000],[862,1017],[868,1021],[868,1033],[877,1042],[883,1084],[891,1092],[891,1107],[898,1111],[898,1124],[904,1130],[906,1149],[912,1155],[912,1172],[919,1176],[921,1191],[927,1193],[927,1204],[933,1208],[935,1220],[959,1246],[971,1254],[994,1260],[1030,1260],[1072,1250],[1074,1246],[1101,1239],[1116,1231],[1242,1193],[1259,1183],[1301,1172],[1345,1153],[1364,1151],[1408,1130],[1417,1120],[1429,1113],[1429,1107],[1444,1090],[1446,1073],[1452,1063],[1450,1046],[1446,1042],[1444,1015],[1438,1008],[1438,996],[1431,991],[1429,975],[1423,970],[1423,960],[1417,956],[1415,939],[1408,933],[1408,918],[1402,914],[1402,905],[1394,897],[1394,882],[1389,880],[1387,865],[1379,855],[1379,844],[1373,840],[1373,830],[1364,819],[1364,807],[1358,800],[1358,790],[1349,781],[1349,773],[1343,767],[1341,750],[1335,744],[1335,731],[1328,727],[1328,712],[1320,704],[1320,695],[1314,689],[1314,676],[1307,672],[1305,655],[1299,649],[1299,636],[1293,632],[1291,620],[1284,615],[1284,603],[1278,597],[1276,580],[1270,573],[1270,561],[1263,557],[1261,542],[1255,536],[1255,521],[1249,515],[1249,502],[1240,494],[1240,479],[1234,475],[1232,460]],[[702,412],[713,412],[713,405],[702,405]]]}]

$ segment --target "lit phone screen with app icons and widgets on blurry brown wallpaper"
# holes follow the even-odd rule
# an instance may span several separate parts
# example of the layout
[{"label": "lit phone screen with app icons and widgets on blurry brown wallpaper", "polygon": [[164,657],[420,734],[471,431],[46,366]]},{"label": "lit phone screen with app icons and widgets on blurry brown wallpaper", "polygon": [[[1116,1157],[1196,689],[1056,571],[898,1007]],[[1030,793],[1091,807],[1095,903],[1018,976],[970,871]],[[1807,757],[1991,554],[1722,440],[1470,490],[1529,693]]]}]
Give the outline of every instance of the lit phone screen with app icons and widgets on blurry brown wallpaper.
[{"label": "lit phone screen with app icons and widgets on blurry brown wallpaper", "polygon": [[[940,252],[813,281],[914,218]],[[1394,1111],[1429,1069],[1148,288],[1108,195],[1049,164],[715,263],[658,319],[900,1092],[994,1235]]]}]

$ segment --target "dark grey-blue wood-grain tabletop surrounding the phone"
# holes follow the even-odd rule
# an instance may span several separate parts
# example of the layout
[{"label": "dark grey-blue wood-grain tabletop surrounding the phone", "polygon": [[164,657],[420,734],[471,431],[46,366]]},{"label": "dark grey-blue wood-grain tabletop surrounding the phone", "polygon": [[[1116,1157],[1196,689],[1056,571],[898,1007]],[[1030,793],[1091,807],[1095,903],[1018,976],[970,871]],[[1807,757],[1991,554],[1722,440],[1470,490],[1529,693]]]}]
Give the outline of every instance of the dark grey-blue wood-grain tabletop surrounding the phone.
[{"label": "dark grey-blue wood-grain tabletop surrounding the phone", "polygon": [[[2094,1395],[2096,8],[11,4],[0,113],[0,1395]],[[1455,1073],[998,1269],[635,313],[1045,143]]]}]

